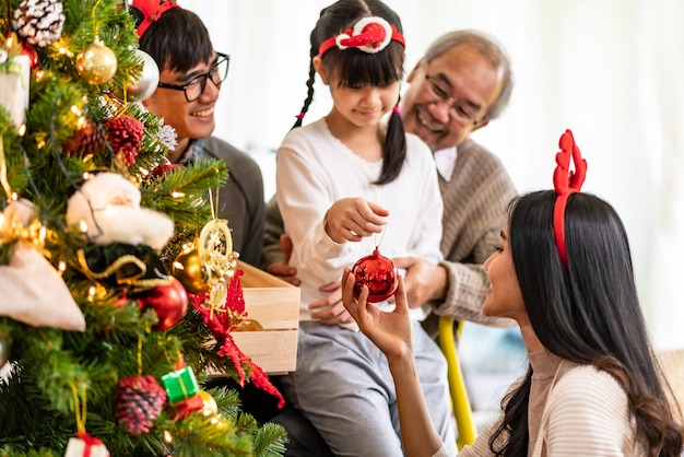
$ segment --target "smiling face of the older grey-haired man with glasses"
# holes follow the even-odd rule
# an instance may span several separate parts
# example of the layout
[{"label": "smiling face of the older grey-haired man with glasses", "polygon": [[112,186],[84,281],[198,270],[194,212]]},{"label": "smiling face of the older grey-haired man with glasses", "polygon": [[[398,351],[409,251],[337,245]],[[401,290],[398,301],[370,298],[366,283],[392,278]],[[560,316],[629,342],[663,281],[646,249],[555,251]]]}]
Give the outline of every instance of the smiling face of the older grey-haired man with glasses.
[{"label": "smiling face of the older grey-haired man with glasses", "polygon": [[[418,62],[408,81],[411,85],[402,98],[404,128],[433,151],[458,145],[486,126],[485,114],[502,91],[497,68],[468,44],[453,46],[431,62]],[[468,116],[455,116],[459,113]]]}]

